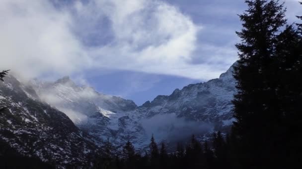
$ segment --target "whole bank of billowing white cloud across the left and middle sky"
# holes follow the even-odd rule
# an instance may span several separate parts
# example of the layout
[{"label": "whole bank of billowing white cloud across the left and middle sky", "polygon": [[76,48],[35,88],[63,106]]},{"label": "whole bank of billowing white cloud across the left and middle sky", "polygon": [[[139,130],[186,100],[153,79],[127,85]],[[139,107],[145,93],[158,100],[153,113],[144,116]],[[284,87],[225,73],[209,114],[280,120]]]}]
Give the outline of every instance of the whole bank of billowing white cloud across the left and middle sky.
[{"label": "whole bank of billowing white cloud across the left and middle sky", "polygon": [[190,63],[202,27],[160,0],[2,0],[0,16],[0,67],[31,78],[95,68],[193,79],[221,72]]}]

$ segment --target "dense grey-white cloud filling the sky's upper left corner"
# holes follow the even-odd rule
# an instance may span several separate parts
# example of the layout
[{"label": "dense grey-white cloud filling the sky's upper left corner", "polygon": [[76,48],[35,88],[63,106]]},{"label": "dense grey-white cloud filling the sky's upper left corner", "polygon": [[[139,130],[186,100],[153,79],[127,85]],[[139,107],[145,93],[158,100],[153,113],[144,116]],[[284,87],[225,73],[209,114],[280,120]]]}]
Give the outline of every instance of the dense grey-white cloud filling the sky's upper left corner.
[{"label": "dense grey-white cloud filling the sky's upper left corner", "polygon": [[70,20],[44,0],[1,0],[1,69],[35,77],[85,68],[91,58],[71,33]]}]

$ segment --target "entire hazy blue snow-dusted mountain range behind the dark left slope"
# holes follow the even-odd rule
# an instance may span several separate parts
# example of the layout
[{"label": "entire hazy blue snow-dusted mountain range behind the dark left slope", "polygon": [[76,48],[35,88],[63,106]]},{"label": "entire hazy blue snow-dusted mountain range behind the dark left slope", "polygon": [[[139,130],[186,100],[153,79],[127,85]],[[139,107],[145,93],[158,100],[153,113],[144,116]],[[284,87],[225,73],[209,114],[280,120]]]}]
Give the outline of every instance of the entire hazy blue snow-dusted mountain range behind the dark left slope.
[{"label": "entire hazy blue snow-dusted mountain range behind the dark left slope", "polygon": [[177,134],[193,134],[230,126],[236,92],[232,69],[218,79],[175,89],[171,95],[159,95],[139,107],[131,100],[77,86],[69,77],[54,83],[31,83],[43,101],[64,112],[80,129],[110,138],[117,146],[130,139],[140,148],[149,143],[151,133],[155,138],[160,135],[160,141],[176,137],[176,130],[184,131]]}]

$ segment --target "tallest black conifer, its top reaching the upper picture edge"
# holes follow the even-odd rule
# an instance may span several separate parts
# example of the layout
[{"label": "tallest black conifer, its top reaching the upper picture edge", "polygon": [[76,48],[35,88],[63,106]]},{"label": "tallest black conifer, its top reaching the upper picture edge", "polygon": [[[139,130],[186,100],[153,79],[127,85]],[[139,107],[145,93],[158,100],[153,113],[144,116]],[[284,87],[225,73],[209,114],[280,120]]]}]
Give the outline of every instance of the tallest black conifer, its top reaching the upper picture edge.
[{"label": "tallest black conifer, its top reaching the upper picture edge", "polygon": [[[245,0],[248,9],[239,15],[243,29],[236,34],[241,43],[239,61],[234,68],[237,94],[234,96],[234,130],[240,143],[243,168],[272,165],[271,153],[276,147],[276,83],[274,79],[276,45],[280,30],[286,24],[283,3],[278,0]],[[276,161],[276,159],[274,159]],[[277,162],[278,163],[278,162]],[[268,166],[271,167],[271,166]]]}]

